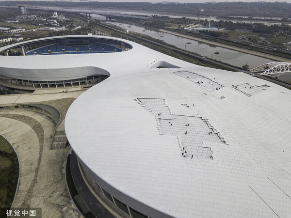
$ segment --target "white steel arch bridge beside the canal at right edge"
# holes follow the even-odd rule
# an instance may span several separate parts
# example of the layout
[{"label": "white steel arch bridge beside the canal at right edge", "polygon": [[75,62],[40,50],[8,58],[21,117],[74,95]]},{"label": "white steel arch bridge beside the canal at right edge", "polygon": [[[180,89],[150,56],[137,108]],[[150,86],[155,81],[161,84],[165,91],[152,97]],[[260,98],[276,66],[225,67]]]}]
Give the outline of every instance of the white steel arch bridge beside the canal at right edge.
[{"label": "white steel arch bridge beside the canal at right edge", "polygon": [[270,62],[262,64],[254,69],[250,70],[253,73],[259,73],[260,75],[267,75],[271,77],[279,77],[283,73],[291,72],[291,63],[289,62]]}]

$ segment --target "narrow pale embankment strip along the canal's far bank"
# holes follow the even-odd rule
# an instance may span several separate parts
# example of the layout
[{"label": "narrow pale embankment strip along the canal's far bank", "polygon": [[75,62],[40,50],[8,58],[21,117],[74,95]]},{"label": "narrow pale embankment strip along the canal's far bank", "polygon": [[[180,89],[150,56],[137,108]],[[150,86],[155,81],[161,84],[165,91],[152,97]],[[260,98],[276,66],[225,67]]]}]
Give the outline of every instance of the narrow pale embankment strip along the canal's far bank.
[{"label": "narrow pale embankment strip along the canal's far bank", "polygon": [[290,62],[291,61],[290,59],[287,59],[287,58],[281,58],[281,57],[277,57],[277,56],[274,56],[274,55],[261,53],[261,52],[258,52],[258,51],[252,51],[252,50],[245,49],[245,48],[234,47],[234,46],[229,46],[229,45],[222,44],[222,43],[212,42],[210,40],[200,39],[198,37],[193,37],[193,36],[181,34],[181,33],[178,33],[178,32],[168,31],[168,30],[164,30],[164,29],[160,29],[159,31],[166,32],[166,33],[173,34],[173,35],[180,36],[180,37],[184,37],[184,38],[187,38],[187,39],[192,39],[192,40],[195,40],[195,41],[198,41],[198,42],[208,43],[208,44],[211,44],[211,45],[224,47],[224,48],[228,48],[228,49],[235,50],[235,51],[240,51],[240,52],[251,54],[251,55],[256,55],[256,56],[259,56],[259,57],[262,57],[262,58],[272,59],[272,60],[279,61],[279,62]]}]

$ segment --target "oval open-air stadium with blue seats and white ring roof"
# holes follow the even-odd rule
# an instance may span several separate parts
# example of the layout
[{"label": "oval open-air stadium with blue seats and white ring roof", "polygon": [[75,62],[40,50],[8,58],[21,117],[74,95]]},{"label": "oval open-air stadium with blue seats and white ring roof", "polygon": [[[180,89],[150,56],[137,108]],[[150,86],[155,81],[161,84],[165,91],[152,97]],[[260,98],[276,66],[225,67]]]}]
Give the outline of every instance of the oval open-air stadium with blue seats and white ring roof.
[{"label": "oval open-air stadium with blue seats and white ring roof", "polygon": [[40,88],[91,87],[110,74],[88,66],[82,58],[129,49],[131,46],[120,40],[92,36],[48,37],[1,47],[0,84],[32,92]]}]

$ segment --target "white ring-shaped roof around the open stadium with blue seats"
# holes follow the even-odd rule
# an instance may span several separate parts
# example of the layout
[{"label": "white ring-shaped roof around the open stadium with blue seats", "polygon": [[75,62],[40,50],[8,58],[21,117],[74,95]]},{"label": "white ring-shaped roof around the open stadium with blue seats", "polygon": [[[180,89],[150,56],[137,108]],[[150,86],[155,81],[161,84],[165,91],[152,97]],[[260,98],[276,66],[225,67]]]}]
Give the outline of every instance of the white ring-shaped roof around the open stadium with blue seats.
[{"label": "white ring-shaped roof around the open stadium with blue seats", "polygon": [[[34,39],[30,43],[62,38],[104,38],[120,39],[107,36],[72,35]],[[129,44],[131,42],[127,41]],[[28,43],[27,41],[1,47],[0,51]],[[128,53],[129,54],[126,54]],[[131,51],[132,52],[132,51]],[[68,54],[68,55],[26,55],[0,56],[0,75],[27,80],[65,80],[82,78],[94,74],[108,74],[106,69],[115,59],[128,59],[131,52]],[[118,53],[124,53],[120,55]],[[97,66],[97,67],[96,67]],[[74,69],[76,68],[76,69]]]}]

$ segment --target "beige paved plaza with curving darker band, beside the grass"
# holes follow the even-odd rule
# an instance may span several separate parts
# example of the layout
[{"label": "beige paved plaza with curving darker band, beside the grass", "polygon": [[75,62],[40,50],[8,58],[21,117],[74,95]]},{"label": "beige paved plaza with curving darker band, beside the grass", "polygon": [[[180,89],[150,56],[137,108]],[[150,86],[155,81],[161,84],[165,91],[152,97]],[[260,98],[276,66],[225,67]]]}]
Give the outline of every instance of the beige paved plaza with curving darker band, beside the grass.
[{"label": "beige paved plaza with curving darker band, beside the grass", "polygon": [[41,207],[44,218],[80,218],[65,185],[69,148],[50,150],[55,128],[51,118],[28,109],[0,109],[0,123],[0,133],[13,144],[21,167],[13,207]]}]

